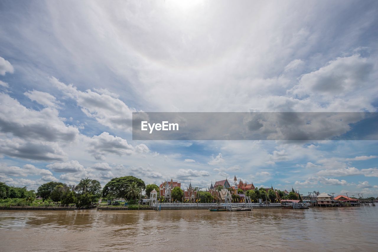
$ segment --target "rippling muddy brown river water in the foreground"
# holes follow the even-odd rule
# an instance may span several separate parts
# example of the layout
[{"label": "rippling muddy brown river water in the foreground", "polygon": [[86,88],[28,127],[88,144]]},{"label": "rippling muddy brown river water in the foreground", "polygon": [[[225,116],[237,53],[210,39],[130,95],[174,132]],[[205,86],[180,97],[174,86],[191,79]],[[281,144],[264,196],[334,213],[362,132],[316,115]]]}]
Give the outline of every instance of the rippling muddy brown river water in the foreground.
[{"label": "rippling muddy brown river water in the foreground", "polygon": [[378,207],[0,211],[0,251],[377,251]]}]

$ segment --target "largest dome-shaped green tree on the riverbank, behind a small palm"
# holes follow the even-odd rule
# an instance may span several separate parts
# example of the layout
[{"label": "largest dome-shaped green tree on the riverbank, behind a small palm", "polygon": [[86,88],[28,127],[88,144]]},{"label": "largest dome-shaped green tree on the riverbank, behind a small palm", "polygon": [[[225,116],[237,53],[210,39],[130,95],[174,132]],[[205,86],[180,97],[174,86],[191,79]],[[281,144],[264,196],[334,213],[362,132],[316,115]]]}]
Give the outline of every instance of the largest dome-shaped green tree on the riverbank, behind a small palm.
[{"label": "largest dome-shaped green tree on the riverbank, behind a small palm", "polygon": [[102,189],[102,196],[107,197],[108,195],[111,195],[115,198],[127,198],[127,188],[132,182],[136,182],[138,187],[141,187],[142,190],[146,189],[146,184],[144,184],[142,179],[135,178],[134,176],[124,176],[120,178],[112,178],[107,182],[104,189]]}]

